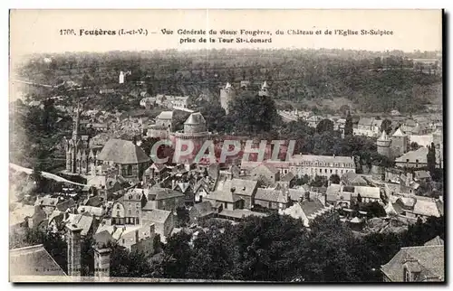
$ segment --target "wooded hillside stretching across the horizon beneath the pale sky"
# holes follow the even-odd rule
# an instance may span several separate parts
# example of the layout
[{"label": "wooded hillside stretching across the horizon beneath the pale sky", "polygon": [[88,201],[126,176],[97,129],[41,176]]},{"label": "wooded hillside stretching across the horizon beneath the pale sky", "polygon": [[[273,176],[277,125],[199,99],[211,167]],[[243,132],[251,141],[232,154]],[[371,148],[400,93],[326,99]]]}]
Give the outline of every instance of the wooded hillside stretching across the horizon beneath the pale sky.
[{"label": "wooded hillside stretching across the horizon beneath the pale sky", "polygon": [[51,63],[35,56],[16,73],[18,78],[43,84],[73,80],[108,87],[118,85],[120,70],[130,70],[127,80],[142,81],[151,95],[204,95],[208,99],[218,99],[219,88],[227,81],[239,87],[240,80],[250,80],[256,90],[267,80],[275,100],[334,110],[347,104],[362,112],[419,112],[426,104],[441,102],[441,75],[413,70],[410,58],[418,55],[352,52],[66,53],[53,56]]}]

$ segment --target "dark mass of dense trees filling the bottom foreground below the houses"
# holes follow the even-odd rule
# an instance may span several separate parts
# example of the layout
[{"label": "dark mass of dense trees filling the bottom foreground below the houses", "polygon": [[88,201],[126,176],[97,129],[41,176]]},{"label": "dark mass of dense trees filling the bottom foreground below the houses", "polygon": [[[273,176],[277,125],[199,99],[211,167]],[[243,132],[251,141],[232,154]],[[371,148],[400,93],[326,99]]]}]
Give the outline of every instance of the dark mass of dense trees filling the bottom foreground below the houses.
[{"label": "dark mass of dense trees filling the bottom foreground below the houses", "polygon": [[381,281],[379,269],[401,247],[443,238],[443,218],[418,221],[409,230],[357,237],[341,221],[326,216],[304,229],[301,221],[271,214],[237,225],[211,224],[197,236],[169,238],[156,277],[257,281]]}]

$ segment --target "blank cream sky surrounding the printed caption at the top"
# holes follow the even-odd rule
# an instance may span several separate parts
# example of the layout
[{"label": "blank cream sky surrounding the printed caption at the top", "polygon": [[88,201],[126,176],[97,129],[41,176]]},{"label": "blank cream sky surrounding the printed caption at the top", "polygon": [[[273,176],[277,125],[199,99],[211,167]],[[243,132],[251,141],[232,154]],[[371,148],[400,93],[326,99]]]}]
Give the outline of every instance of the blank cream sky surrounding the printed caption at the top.
[{"label": "blank cream sky surrounding the printed caption at the top", "polygon": [[[405,52],[440,51],[440,10],[12,10],[10,55],[35,52],[109,52],[143,50],[196,50],[207,48],[304,48]],[[148,31],[118,35],[120,29]],[[76,35],[61,35],[73,29]],[[116,35],[82,35],[80,30],[111,30]],[[163,34],[161,30],[174,31]],[[216,30],[206,35],[217,42],[198,42],[201,35],[178,34],[178,29]],[[270,31],[271,43],[219,43],[220,30]],[[335,35],[335,30],[387,30],[392,35]],[[276,30],[284,35],[275,34]],[[289,35],[288,30],[318,31],[320,35]],[[332,35],[324,32],[330,30]],[[226,36],[234,38],[237,36]],[[180,43],[193,38],[196,42]],[[242,38],[251,36],[242,35]]]}]

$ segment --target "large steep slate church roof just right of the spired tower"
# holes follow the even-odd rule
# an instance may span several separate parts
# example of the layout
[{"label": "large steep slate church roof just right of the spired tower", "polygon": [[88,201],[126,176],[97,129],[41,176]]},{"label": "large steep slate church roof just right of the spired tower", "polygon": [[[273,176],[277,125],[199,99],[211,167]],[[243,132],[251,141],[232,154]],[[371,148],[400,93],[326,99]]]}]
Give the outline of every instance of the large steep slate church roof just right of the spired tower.
[{"label": "large steep slate church roof just right of the spired tower", "polygon": [[140,164],[150,161],[148,155],[129,140],[112,138],[102,148],[98,160],[116,164]]}]

